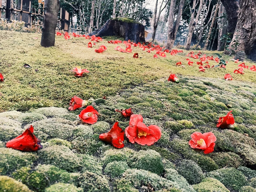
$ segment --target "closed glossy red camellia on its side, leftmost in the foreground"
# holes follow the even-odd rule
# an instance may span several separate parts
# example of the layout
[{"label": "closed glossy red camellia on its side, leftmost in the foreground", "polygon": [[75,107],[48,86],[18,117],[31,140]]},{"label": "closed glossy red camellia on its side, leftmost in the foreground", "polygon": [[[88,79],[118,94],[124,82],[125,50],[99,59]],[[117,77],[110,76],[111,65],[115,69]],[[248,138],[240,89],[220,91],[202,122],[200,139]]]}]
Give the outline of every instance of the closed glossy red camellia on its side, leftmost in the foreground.
[{"label": "closed glossy red camellia on its side, leftmost in the foreground", "polygon": [[20,151],[37,151],[43,146],[40,144],[40,140],[33,134],[34,127],[30,125],[21,135],[12,139],[6,143],[7,148],[13,148]]}]

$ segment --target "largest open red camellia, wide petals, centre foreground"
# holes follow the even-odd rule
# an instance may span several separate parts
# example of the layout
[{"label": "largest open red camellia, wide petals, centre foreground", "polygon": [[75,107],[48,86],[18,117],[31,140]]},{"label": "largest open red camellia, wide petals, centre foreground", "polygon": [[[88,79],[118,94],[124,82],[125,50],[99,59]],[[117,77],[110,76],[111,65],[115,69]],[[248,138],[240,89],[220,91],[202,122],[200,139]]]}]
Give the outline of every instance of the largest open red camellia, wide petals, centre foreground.
[{"label": "largest open red camellia, wide petals, centre foreground", "polygon": [[125,135],[131,143],[140,145],[153,145],[161,138],[161,129],[156,125],[148,127],[143,123],[141,115],[134,114],[130,117],[129,126],[125,129]]}]

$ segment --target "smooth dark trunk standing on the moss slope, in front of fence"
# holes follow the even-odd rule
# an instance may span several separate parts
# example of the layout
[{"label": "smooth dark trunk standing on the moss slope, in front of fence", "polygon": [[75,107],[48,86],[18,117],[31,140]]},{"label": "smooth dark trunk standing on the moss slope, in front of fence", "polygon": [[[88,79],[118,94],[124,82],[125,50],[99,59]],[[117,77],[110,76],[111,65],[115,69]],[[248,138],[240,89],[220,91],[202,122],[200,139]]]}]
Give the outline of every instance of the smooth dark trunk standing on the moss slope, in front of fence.
[{"label": "smooth dark trunk standing on the moss slope, in front of fence", "polygon": [[60,11],[59,0],[45,0],[44,20],[42,28],[41,45],[51,47],[55,44],[55,30],[57,27],[58,13]]}]

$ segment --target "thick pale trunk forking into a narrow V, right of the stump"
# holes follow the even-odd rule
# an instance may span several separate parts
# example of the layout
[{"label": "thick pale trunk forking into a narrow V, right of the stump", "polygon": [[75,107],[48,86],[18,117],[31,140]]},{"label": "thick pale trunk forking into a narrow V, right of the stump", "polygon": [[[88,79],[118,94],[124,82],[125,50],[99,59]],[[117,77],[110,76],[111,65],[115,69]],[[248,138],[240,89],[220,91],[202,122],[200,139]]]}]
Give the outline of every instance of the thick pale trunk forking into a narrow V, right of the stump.
[{"label": "thick pale trunk forking into a narrow V, right of the stump", "polygon": [[168,24],[168,31],[167,31],[167,43],[166,43],[166,48],[169,50],[172,50],[172,47],[176,39],[184,3],[185,3],[185,0],[180,0],[177,19],[174,23],[175,0],[171,0],[170,11],[169,11],[169,24]]}]

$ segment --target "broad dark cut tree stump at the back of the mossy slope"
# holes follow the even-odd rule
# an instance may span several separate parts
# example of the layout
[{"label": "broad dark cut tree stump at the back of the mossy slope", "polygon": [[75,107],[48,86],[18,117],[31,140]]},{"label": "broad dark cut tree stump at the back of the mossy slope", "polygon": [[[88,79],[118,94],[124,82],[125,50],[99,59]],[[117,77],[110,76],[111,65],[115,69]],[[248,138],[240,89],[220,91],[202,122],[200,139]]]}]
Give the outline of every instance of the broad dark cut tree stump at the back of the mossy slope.
[{"label": "broad dark cut tree stump at the back of the mossy slope", "polygon": [[140,23],[127,23],[124,21],[107,20],[105,25],[93,31],[90,36],[121,36],[125,41],[131,40],[135,43],[145,42],[145,27]]}]

